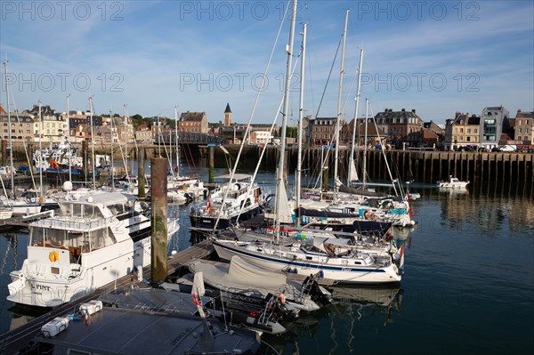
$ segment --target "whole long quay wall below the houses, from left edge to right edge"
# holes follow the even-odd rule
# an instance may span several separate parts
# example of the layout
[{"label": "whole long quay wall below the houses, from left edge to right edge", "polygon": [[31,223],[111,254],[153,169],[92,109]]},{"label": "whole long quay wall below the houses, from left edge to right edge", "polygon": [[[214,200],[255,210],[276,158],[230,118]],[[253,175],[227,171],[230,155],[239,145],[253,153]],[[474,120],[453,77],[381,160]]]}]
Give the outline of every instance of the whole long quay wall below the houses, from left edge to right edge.
[{"label": "whole long quay wall below the houses, from left edge to right edge", "polygon": [[[0,164],[7,165],[9,162],[9,150],[7,141],[1,141]],[[76,144],[75,144],[76,145]],[[80,154],[84,150],[91,150],[91,145],[82,147],[78,143]],[[38,143],[26,145],[28,156],[39,148]],[[239,145],[224,145],[223,148],[207,147],[203,145],[182,145],[180,156],[182,164],[195,165],[214,162],[214,167],[227,168],[233,165],[238,157]],[[94,149],[99,154],[109,154],[110,144],[95,144]],[[122,157],[124,154],[117,144],[114,145],[114,156]],[[128,157],[137,158],[138,151],[144,149],[146,158],[151,157],[174,157],[175,148],[154,144],[142,144],[134,146],[128,144]],[[214,156],[210,158],[210,149]],[[258,161],[262,161],[261,169],[274,171],[279,159],[279,147],[266,147],[262,157],[263,147],[259,145],[246,145],[239,158],[239,168],[253,170]],[[456,176],[460,180],[470,182],[534,182],[534,154],[532,153],[506,153],[506,152],[453,152],[453,151],[413,151],[413,150],[388,150],[384,154],[380,150],[356,150],[354,160],[356,170],[361,179],[363,156],[367,155],[368,178],[373,180],[389,180],[387,165],[392,170],[393,178],[400,178],[403,182],[434,183],[441,179],[447,179],[449,175]],[[344,181],[349,162],[350,149],[340,147],[339,151],[339,176]],[[13,157],[16,161],[26,161],[25,148],[22,144],[13,144]],[[295,173],[297,148],[295,146],[286,149],[286,173]],[[328,161],[328,173],[332,175],[334,169],[334,149],[310,148],[303,149],[303,170],[310,176],[320,172],[321,158]]]}]

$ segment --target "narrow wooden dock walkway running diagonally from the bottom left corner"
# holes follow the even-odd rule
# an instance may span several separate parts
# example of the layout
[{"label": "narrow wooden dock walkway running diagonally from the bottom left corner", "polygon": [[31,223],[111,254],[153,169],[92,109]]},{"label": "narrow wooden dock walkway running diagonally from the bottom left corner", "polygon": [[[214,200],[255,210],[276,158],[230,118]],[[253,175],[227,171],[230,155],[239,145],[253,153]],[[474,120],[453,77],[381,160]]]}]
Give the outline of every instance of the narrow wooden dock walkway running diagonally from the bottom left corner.
[{"label": "narrow wooden dock walkway running diagonally from the bottom left corner", "polygon": [[[174,255],[168,257],[167,271],[168,274],[173,274],[176,270],[190,260],[198,260],[209,256],[214,253],[214,246],[211,241],[205,240],[195,246],[190,246]],[[150,276],[150,266],[143,268],[142,275]],[[23,349],[31,340],[41,331],[41,327],[45,323],[52,320],[55,317],[64,315],[68,311],[73,311],[80,303],[96,299],[101,294],[109,293],[116,288],[143,285],[142,282],[134,280],[132,275],[127,275],[123,278],[118,278],[116,282],[109,283],[106,286],[102,286],[91,294],[78,298],[76,301],[65,303],[52,311],[45,313],[44,315],[30,320],[23,326],[17,327],[12,331],[9,331],[3,335],[0,335],[0,354],[16,354]]]}]

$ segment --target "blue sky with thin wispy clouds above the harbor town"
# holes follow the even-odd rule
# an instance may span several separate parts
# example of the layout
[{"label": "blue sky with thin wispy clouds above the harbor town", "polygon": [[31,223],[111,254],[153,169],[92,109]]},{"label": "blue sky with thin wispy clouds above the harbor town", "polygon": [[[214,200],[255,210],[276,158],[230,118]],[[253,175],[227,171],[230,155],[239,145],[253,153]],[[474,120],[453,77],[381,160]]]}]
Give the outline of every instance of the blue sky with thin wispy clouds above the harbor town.
[{"label": "blue sky with thin wispy clouds above the harbor town", "polygon": [[[279,112],[289,41],[286,1],[2,1],[0,102],[223,121],[271,123]],[[345,12],[341,112],[416,109],[444,124],[455,112],[503,105],[534,110],[532,1],[299,1],[287,124],[297,125],[300,35],[307,23],[303,111],[336,117]],[[283,20],[283,21],[282,21]],[[280,28],[281,26],[281,28]],[[277,39],[278,36],[278,41]],[[271,58],[272,52],[272,59]],[[337,52],[337,54],[336,54]],[[270,62],[268,71],[265,71]],[[266,75],[264,75],[266,73]],[[266,84],[262,88],[262,78]],[[257,102],[257,103],[256,103]],[[280,123],[278,118],[277,123]]]}]

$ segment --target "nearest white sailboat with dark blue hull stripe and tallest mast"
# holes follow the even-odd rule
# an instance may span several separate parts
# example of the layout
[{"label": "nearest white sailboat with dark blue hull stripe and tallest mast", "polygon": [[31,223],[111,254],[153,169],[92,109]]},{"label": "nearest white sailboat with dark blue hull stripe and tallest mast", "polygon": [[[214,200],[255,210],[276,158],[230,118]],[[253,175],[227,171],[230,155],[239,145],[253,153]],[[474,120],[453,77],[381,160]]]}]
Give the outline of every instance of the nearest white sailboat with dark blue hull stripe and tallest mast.
[{"label": "nearest white sailboat with dark blue hull stripe and tallest mast", "polygon": [[[291,80],[291,61],[295,31],[296,0],[293,2],[289,44],[287,44],[287,81],[284,92],[284,109],[282,111],[282,130],[277,172],[277,195],[274,213],[274,241],[235,241],[215,239],[214,249],[220,258],[231,260],[234,255],[256,266],[271,270],[288,270],[297,274],[310,276],[320,273],[322,278],[342,283],[391,283],[401,281],[400,267],[393,262],[392,255],[378,255],[345,247],[348,239],[313,238],[312,241],[279,242],[280,222],[287,205],[286,189],[283,181],[284,150],[286,147],[286,125],[288,111],[288,87]],[[348,21],[348,12],[345,17]],[[304,32],[303,32],[304,33]],[[260,234],[258,233],[260,236]]]}]

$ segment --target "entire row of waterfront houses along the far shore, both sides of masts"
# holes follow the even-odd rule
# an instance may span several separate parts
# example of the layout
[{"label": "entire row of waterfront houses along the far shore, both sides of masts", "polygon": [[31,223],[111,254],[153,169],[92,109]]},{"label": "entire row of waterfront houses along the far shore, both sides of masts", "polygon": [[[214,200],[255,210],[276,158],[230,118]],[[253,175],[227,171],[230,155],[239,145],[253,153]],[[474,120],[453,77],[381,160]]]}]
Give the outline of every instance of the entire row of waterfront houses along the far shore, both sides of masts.
[{"label": "entire row of waterfront houses along the far shore, both sides of masts", "polygon": [[[41,118],[40,118],[41,117]],[[232,122],[230,103],[223,112],[223,120],[210,124],[206,112],[182,112],[179,120],[166,125],[167,118],[153,117],[150,125],[134,128],[131,117],[106,117],[93,115],[90,111],[69,110],[56,112],[50,106],[34,105],[32,109],[11,114],[11,138],[13,141],[42,141],[59,143],[69,133],[71,141],[144,141],[150,142],[158,134],[180,132],[205,133],[223,137],[228,143],[247,141],[251,144],[270,143],[279,136],[278,125],[246,125]],[[303,141],[309,145],[332,144],[336,135],[337,117],[305,117]],[[0,136],[7,140],[10,132],[7,112],[0,105]],[[354,130],[354,126],[356,129]],[[387,144],[396,149],[444,149],[457,150],[477,147],[492,149],[504,144],[534,146],[534,112],[519,109],[514,118],[504,107],[487,107],[481,115],[456,112],[445,125],[425,122],[416,109],[384,109],[373,118],[357,118],[350,122],[340,121],[339,141],[342,145],[352,143],[354,136],[358,145]],[[365,141],[367,135],[368,141]],[[288,142],[291,142],[288,139]],[[295,141],[295,139],[293,139]]]}]

